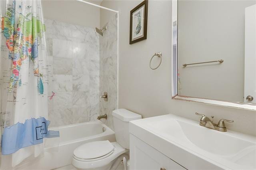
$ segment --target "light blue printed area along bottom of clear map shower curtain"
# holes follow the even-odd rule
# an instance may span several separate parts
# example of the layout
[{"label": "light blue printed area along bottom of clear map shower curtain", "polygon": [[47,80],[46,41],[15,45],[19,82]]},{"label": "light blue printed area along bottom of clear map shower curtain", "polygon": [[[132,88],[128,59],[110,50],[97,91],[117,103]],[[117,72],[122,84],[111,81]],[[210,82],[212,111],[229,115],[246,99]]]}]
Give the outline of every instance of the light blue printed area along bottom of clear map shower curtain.
[{"label": "light blue printed area along bottom of clear map shower curtain", "polygon": [[43,138],[59,137],[59,131],[48,130],[50,121],[44,117],[27,119],[25,123],[16,123],[5,127],[2,134],[2,154],[8,155],[20,148],[40,144]]}]

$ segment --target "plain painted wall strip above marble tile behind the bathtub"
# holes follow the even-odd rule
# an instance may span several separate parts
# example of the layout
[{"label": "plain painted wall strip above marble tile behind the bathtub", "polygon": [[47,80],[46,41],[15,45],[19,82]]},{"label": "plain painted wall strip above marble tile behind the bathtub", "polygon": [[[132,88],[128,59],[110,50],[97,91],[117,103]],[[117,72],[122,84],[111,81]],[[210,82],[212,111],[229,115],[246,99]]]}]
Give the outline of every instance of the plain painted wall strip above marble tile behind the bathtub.
[{"label": "plain painted wall strip above marble tile behind the bathtub", "polygon": [[[95,1],[97,4],[99,1]],[[100,8],[76,0],[42,0],[44,18],[86,27],[100,27]]]}]

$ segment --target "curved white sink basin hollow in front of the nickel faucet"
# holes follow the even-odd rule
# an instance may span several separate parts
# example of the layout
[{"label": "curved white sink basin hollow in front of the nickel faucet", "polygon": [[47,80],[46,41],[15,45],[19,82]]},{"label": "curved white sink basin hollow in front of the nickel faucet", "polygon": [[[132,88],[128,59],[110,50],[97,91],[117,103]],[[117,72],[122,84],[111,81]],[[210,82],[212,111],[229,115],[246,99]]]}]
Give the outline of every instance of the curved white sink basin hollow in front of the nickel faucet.
[{"label": "curved white sink basin hollow in front of the nickel faucet", "polygon": [[178,121],[178,123],[190,142],[213,154],[234,156],[248,147],[255,146],[253,142],[228,135],[225,132],[218,132],[183,121]]}]

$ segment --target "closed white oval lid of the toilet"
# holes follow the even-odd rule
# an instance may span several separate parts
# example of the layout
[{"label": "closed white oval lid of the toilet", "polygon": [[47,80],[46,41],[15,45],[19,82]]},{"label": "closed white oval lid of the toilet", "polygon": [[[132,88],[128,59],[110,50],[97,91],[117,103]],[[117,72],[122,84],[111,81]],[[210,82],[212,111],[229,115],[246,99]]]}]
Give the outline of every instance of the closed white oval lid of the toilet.
[{"label": "closed white oval lid of the toilet", "polygon": [[114,150],[114,146],[108,141],[94,141],[82,144],[74,150],[74,156],[80,159],[94,159],[105,156]]}]

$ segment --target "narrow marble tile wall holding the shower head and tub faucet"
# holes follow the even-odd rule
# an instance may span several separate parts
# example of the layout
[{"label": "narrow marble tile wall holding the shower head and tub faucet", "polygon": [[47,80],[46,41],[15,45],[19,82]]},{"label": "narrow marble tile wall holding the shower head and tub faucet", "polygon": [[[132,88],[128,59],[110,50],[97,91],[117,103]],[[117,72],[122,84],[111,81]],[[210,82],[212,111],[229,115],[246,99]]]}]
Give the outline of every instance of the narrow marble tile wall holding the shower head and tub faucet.
[{"label": "narrow marble tile wall holding the shower head and tub faucet", "polygon": [[106,26],[107,30],[100,36],[100,94],[108,92],[108,101],[100,103],[100,115],[108,115],[108,119],[102,119],[102,122],[114,130],[112,111],[117,108],[117,14]]}]

